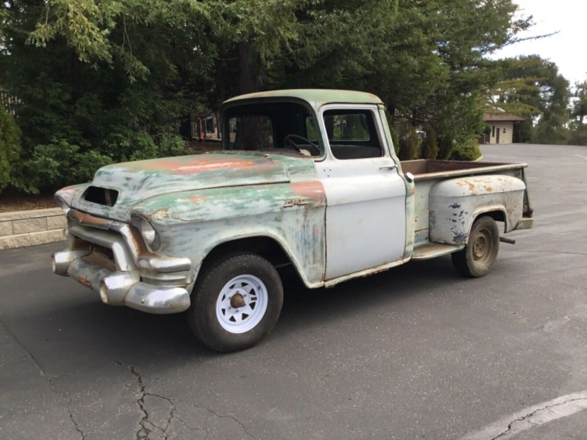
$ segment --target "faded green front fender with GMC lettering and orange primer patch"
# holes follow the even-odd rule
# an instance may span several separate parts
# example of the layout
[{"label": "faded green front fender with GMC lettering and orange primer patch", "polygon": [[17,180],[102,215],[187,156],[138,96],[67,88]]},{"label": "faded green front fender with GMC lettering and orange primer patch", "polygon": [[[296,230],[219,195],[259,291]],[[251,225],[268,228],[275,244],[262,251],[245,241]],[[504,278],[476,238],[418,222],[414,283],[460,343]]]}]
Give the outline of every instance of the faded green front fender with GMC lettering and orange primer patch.
[{"label": "faded green front fender with GMC lettering and orange primer patch", "polygon": [[187,256],[198,268],[221,243],[274,239],[308,287],[323,281],[326,198],[321,182],[288,182],[176,192],[135,205],[160,236],[157,253]]}]

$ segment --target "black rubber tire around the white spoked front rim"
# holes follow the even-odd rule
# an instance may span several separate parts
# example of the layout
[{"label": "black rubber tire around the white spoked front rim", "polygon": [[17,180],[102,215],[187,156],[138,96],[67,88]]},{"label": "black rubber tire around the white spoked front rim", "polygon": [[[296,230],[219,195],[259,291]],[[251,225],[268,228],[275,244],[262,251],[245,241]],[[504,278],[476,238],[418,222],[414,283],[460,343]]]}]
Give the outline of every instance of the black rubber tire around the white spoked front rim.
[{"label": "black rubber tire around the white spoked front rim", "polygon": [[[244,333],[231,333],[222,326],[217,316],[217,301],[227,283],[244,274],[255,276],[264,284],[266,310],[252,329]],[[281,279],[268,260],[255,253],[227,253],[205,264],[200,270],[186,313],[191,330],[202,343],[213,350],[230,352],[244,350],[261,341],[275,326],[283,300]]]}]

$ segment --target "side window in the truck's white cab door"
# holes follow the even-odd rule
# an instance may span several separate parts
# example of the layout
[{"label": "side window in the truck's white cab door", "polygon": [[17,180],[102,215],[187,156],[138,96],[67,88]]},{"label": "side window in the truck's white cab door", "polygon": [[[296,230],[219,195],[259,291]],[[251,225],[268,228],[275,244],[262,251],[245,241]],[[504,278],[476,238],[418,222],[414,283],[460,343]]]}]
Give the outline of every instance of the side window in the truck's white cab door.
[{"label": "side window in the truck's white cab door", "polygon": [[340,109],[324,112],[330,150],[337,159],[382,157],[383,148],[370,110]]}]

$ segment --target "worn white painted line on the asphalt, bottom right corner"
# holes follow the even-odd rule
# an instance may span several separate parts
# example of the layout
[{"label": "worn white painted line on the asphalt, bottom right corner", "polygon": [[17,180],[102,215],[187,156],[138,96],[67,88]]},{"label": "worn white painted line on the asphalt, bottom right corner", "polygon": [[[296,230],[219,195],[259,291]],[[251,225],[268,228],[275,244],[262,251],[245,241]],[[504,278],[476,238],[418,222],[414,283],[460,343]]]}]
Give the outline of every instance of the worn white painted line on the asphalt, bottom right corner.
[{"label": "worn white painted line on the asphalt, bottom right corner", "polygon": [[562,417],[568,417],[583,409],[587,409],[587,390],[573,392],[522,409],[522,411],[487,425],[480,431],[470,432],[460,440],[494,440],[497,438],[505,440],[512,438],[519,432],[539,427]]}]

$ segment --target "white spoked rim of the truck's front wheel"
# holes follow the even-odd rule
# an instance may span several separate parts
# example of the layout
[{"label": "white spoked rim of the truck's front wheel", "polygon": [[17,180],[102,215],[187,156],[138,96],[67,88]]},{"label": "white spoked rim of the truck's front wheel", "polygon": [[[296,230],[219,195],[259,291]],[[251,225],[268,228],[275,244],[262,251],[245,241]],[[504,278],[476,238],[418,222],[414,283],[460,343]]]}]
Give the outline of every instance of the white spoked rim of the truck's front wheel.
[{"label": "white spoked rim of the truck's front wheel", "polygon": [[[254,275],[235,276],[222,287],[218,295],[218,323],[230,333],[245,333],[263,319],[267,300],[267,288],[260,279]],[[235,304],[237,301],[240,304]]]}]

